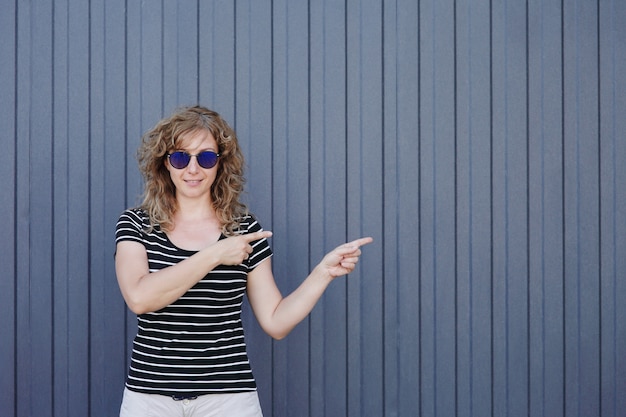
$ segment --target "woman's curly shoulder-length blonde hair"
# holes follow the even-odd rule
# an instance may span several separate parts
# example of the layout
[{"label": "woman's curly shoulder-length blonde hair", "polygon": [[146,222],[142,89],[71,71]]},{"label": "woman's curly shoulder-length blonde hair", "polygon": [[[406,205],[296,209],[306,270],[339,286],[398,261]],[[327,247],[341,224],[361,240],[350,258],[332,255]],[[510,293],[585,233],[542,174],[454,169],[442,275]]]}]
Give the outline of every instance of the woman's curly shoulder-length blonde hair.
[{"label": "woman's curly shoulder-length blonde hair", "polygon": [[211,197],[222,232],[232,235],[239,220],[248,214],[245,204],[239,201],[245,184],[244,158],[235,131],[218,113],[205,107],[179,108],[141,138],[137,150],[144,179],[141,208],[150,217],[151,227],[159,225],[165,231],[171,230],[177,210],[176,188],[164,160],[169,152],[181,148],[183,136],[197,130],[208,130],[217,141],[220,157]]}]

